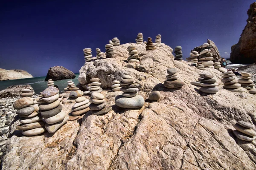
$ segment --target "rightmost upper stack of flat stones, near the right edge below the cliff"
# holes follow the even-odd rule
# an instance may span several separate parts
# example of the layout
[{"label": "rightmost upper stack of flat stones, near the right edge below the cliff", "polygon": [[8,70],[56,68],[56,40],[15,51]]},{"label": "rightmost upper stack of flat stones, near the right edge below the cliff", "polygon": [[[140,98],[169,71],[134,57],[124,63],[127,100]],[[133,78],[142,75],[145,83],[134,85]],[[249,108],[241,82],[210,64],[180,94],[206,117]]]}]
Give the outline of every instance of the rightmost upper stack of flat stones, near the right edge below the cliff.
[{"label": "rightmost upper stack of flat stones, near the right edge below the cliff", "polygon": [[241,84],[241,86],[243,88],[246,88],[250,94],[256,94],[256,88],[255,88],[255,84],[253,83],[252,80],[252,75],[250,73],[246,73],[246,72],[241,72],[240,79],[238,80],[238,82]]}]

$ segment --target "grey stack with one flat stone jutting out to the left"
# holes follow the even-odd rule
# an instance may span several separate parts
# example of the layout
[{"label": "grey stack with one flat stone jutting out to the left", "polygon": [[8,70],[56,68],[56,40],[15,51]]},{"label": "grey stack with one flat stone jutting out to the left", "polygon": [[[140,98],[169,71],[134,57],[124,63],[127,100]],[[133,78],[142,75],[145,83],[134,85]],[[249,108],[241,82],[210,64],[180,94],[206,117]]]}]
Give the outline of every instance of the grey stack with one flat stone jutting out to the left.
[{"label": "grey stack with one flat stone jutting out to the left", "polygon": [[190,82],[192,85],[201,86],[199,91],[207,93],[207,94],[215,94],[219,91],[217,87],[218,84],[215,83],[216,79],[213,78],[210,74],[199,74],[199,78],[197,82]]}]

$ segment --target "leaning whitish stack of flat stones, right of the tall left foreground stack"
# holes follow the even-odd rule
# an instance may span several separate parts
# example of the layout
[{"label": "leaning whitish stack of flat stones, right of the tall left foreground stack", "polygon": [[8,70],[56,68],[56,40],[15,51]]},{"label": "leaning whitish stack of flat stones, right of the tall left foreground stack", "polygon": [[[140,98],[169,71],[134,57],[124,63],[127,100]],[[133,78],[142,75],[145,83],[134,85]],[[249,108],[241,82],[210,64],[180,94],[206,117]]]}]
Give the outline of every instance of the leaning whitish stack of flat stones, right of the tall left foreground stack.
[{"label": "leaning whitish stack of flat stones, right of the tall left foreground stack", "polygon": [[79,116],[81,114],[87,113],[90,111],[89,105],[90,101],[84,96],[76,98],[76,103],[72,107],[72,116]]}]

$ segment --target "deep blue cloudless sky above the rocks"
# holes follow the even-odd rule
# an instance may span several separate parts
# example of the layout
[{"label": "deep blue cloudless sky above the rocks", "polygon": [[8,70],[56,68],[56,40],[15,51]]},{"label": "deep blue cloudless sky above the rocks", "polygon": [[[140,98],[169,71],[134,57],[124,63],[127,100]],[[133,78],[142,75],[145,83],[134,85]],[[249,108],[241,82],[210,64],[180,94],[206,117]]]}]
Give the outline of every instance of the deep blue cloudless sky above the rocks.
[{"label": "deep blue cloudless sky above the rocks", "polygon": [[157,34],[183,58],[213,40],[228,58],[246,25],[254,0],[1,0],[0,68],[46,76],[52,66],[78,73],[84,48],[105,52],[118,37],[121,44]]}]

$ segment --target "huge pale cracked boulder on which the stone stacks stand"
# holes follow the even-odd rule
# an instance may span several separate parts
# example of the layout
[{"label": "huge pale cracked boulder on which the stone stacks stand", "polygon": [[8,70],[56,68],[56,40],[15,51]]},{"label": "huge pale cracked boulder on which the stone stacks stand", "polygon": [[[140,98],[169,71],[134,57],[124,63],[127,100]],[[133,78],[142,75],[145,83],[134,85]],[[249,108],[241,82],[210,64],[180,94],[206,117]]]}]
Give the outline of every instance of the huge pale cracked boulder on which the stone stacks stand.
[{"label": "huge pale cracked boulder on which the stone stacks stand", "polygon": [[[2,158],[2,169],[48,170],[255,170],[256,143],[244,150],[236,144],[232,123],[244,120],[256,123],[256,98],[248,93],[233,93],[223,88],[221,72],[206,68],[219,84],[214,95],[200,93],[191,81],[200,71],[186,61],[175,61],[172,48],[155,44],[156,50],[136,46],[139,63],[128,63],[132,43],[114,46],[116,58],[98,59],[82,66],[79,82],[101,79],[102,94],[113,109],[102,116],[89,112],[68,121],[56,133],[25,137],[10,125],[10,136]],[[163,86],[167,68],[177,68],[185,85],[180,89]],[[145,105],[140,109],[123,109],[115,105],[121,91],[110,91],[114,79],[130,74],[140,84],[139,94]],[[161,98],[149,102],[148,95],[157,90]],[[90,96],[86,96],[88,99]],[[64,99],[66,114],[74,101]]]}]

